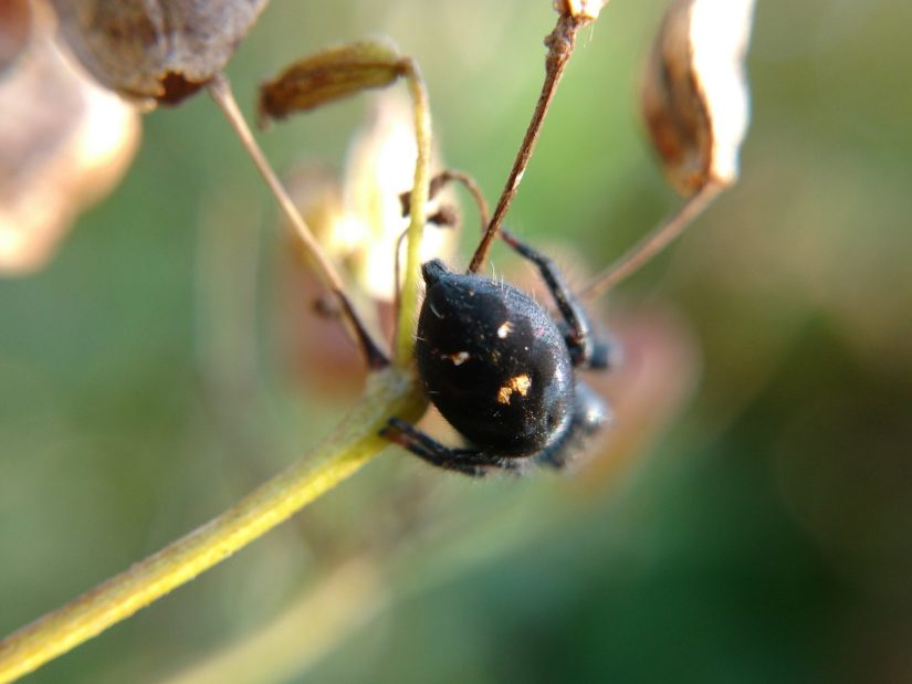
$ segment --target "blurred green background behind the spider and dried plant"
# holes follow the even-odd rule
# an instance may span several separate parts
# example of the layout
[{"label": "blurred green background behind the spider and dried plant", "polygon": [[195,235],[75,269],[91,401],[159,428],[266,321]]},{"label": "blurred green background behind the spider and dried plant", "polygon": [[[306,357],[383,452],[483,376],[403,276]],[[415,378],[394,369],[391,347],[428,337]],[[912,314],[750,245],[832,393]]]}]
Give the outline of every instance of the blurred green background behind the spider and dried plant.
[{"label": "blurred green background behind the spider and dried plant", "polygon": [[[273,0],[229,73],[251,112],[293,59],[389,35],[444,158],[493,197],[549,6]],[[602,267],[678,201],[637,114],[662,7],[609,3],[545,125],[509,222],[562,263]],[[169,681],[255,634],[244,681],[912,680],[910,28],[902,0],[759,0],[740,185],[595,307],[680,359],[636,453],[476,483],[390,452],[28,681]],[[364,115],[260,137],[280,169],[338,168]],[[290,370],[286,244],[211,101],[144,127],[50,266],[0,281],[2,633],[224,509],[355,400]]]}]

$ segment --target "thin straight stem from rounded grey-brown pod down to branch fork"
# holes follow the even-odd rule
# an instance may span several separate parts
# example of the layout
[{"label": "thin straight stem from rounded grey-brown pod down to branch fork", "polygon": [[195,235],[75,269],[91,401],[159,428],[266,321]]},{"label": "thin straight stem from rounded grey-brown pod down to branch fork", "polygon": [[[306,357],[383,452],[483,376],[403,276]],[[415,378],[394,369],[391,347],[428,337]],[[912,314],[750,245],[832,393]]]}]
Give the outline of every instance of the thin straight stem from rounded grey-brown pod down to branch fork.
[{"label": "thin straight stem from rounded grey-brown pod down to branch fork", "polygon": [[212,81],[210,81],[208,87],[212,99],[216,101],[216,104],[219,105],[219,108],[221,108],[226,118],[231,124],[231,127],[234,129],[234,133],[238,135],[238,138],[241,140],[244,149],[247,149],[248,154],[250,154],[253,159],[253,164],[256,166],[256,169],[266,181],[269,189],[279,201],[279,206],[282,208],[285,217],[294,227],[298,238],[301,238],[301,241],[304,243],[304,249],[307,256],[316,266],[317,277],[338,299],[343,319],[348,324],[346,329],[355,344],[358,345],[358,348],[364,352],[367,366],[374,370],[384,368],[389,364],[389,360],[386,358],[386,355],[380,350],[380,348],[374,343],[370,335],[367,333],[367,328],[365,328],[364,324],[358,318],[354,307],[352,306],[352,302],[345,294],[345,286],[342,282],[342,277],[336,272],[329,260],[326,259],[326,255],[319,248],[316,238],[314,238],[311,229],[304,222],[304,219],[301,217],[301,213],[297,211],[297,208],[294,206],[291,197],[289,197],[284,186],[282,186],[282,182],[279,180],[275,171],[273,171],[272,166],[265,158],[265,155],[263,155],[263,150],[260,149],[256,140],[253,138],[250,126],[247,125],[247,120],[241,114],[238,103],[234,101],[234,95],[231,92],[231,84],[229,83],[228,77],[224,76],[224,74],[217,74]]}]

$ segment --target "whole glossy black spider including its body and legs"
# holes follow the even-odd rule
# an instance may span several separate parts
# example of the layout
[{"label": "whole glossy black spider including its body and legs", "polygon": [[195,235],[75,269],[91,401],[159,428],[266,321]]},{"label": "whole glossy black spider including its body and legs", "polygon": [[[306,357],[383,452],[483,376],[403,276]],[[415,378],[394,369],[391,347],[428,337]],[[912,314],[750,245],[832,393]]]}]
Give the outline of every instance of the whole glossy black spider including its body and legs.
[{"label": "whole glossy black spider including its body and legs", "polygon": [[593,338],[554,263],[510,233],[502,236],[538,266],[560,322],[512,285],[427,262],[418,371],[430,401],[469,443],[444,446],[398,419],[384,431],[426,461],[474,476],[530,463],[563,467],[606,420],[601,399],[575,372],[605,368],[606,345]]}]

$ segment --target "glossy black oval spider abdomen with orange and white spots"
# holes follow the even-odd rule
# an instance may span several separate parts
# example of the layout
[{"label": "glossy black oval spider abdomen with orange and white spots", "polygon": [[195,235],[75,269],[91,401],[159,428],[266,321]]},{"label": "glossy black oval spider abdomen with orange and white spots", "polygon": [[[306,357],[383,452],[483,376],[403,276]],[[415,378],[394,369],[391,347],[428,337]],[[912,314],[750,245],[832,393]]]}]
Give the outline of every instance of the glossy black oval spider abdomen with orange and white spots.
[{"label": "glossy black oval spider abdomen with orange and white spots", "polygon": [[506,456],[542,451],[568,429],[574,376],[552,317],[515,287],[422,270],[427,292],[416,357],[431,402],[474,446]]}]

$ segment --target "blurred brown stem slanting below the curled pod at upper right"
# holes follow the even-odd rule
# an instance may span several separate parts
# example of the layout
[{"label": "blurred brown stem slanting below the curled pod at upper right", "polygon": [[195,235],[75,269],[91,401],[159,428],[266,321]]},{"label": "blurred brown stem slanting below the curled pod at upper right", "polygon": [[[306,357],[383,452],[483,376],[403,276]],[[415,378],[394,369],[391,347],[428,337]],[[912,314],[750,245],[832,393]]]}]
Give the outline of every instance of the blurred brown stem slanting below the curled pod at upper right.
[{"label": "blurred brown stem slanting below the curled pod at upper right", "polygon": [[596,297],[631,275],[683,233],[723,189],[723,185],[712,181],[703,186],[674,214],[660,223],[601,274],[593,278],[578,293],[579,296]]}]

